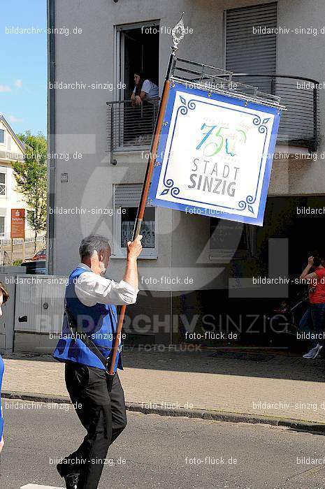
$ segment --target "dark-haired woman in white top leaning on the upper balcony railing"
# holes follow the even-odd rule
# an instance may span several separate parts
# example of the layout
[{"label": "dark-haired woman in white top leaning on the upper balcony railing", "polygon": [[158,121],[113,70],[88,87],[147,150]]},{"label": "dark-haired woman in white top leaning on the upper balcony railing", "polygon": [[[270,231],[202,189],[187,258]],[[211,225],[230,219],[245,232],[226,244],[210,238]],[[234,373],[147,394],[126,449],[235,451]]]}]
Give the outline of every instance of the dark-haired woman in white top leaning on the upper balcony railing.
[{"label": "dark-haired woman in white top leaning on the upper balcony railing", "polygon": [[133,110],[133,131],[136,144],[149,144],[154,131],[157,116],[159,89],[145,74],[138,70],[134,72],[136,86],[131,94]]}]

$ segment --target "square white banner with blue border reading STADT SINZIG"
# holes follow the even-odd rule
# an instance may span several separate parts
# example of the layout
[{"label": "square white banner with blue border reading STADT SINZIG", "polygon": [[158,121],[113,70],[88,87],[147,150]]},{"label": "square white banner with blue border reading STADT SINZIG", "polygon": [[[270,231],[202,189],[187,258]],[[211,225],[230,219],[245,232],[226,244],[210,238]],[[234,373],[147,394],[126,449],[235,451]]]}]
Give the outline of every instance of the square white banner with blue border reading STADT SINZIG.
[{"label": "square white banner with blue border reading STADT SINZIG", "polygon": [[278,108],[171,83],[152,203],[262,226],[279,122]]}]

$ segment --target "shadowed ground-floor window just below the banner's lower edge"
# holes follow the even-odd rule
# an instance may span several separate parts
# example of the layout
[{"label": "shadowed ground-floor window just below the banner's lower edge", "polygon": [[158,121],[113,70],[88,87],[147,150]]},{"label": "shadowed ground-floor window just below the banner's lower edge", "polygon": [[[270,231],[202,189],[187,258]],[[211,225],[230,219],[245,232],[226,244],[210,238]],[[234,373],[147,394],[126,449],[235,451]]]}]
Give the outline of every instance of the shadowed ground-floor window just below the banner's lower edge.
[{"label": "shadowed ground-floor window just below the banner's lower edge", "polygon": [[219,263],[256,255],[257,228],[210,217],[210,259]]}]

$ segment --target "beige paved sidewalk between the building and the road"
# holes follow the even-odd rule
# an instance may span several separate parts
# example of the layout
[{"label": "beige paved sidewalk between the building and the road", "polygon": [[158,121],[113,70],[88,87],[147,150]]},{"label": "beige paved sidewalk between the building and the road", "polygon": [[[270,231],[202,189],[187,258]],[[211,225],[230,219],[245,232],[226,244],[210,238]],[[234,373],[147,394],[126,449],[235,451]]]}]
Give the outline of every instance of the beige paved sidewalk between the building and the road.
[{"label": "beige paved sidewalk between the building and the road", "polygon": [[[259,418],[265,417],[268,423],[274,418],[325,423],[325,360],[258,355],[256,361],[233,356],[238,353],[126,350],[120,378],[128,407],[174,416],[215,411],[212,418],[229,421],[254,422],[250,419],[254,417],[262,422]],[[68,397],[64,365],[50,356],[13,353],[3,361],[3,397],[6,393],[38,400]],[[231,419],[230,413],[240,416]]]}]

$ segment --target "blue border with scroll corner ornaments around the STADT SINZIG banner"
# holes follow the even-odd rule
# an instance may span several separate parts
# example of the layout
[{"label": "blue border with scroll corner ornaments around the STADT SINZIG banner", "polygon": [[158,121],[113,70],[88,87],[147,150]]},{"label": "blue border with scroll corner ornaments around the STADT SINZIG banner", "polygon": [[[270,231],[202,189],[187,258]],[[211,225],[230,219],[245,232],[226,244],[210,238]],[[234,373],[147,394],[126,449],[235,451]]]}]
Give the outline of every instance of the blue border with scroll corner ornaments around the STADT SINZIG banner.
[{"label": "blue border with scroll corner ornaments around the STADT SINZIG banner", "polygon": [[[173,126],[171,126],[171,117],[173,114],[173,108],[175,105],[176,101],[176,92],[183,92],[184,94],[191,94],[191,99],[189,101],[186,100],[185,97],[182,97],[180,95],[180,100],[182,102],[182,105],[178,107],[178,111],[175,117],[175,122]],[[201,96],[203,98],[206,98],[207,101],[203,102],[201,100],[195,99],[195,96]],[[196,108],[196,103],[207,103],[211,105],[210,101],[220,101],[220,102],[225,102],[229,103],[230,105],[233,106],[233,108],[229,110],[235,110],[238,112],[245,112],[247,115],[250,115],[250,112],[247,110],[252,109],[252,110],[259,110],[259,112],[264,112],[266,114],[266,117],[261,120],[261,117],[259,117],[256,113],[252,112],[251,115],[253,117],[252,123],[257,126],[257,129],[259,133],[265,133],[265,138],[263,142],[263,153],[261,155],[261,161],[260,161],[260,166],[259,166],[259,175],[258,175],[258,180],[257,180],[257,189],[254,193],[254,195],[247,196],[245,200],[240,200],[238,202],[237,207],[225,207],[222,205],[215,205],[216,210],[210,210],[204,207],[204,204],[206,205],[212,205],[211,203],[204,203],[201,201],[194,201],[190,200],[189,198],[182,198],[181,196],[178,196],[180,194],[180,189],[174,184],[173,180],[171,178],[166,180],[166,172],[168,169],[168,161],[169,161],[169,154],[168,154],[168,159],[166,162],[166,168],[164,172],[164,186],[165,189],[164,191],[161,192],[159,196],[157,196],[157,188],[159,184],[159,180],[161,177],[161,163],[164,160],[164,152],[166,151],[166,143],[168,139],[168,135],[171,131],[171,142],[169,145],[168,150],[170,151],[170,148],[172,147],[173,144],[173,135],[175,131],[175,127],[178,121],[178,115],[186,115],[188,110],[194,110]],[[217,105],[217,104],[213,104]],[[224,108],[224,106],[222,106]],[[245,110],[240,110],[241,107],[245,107]],[[267,115],[273,115],[273,124],[270,127],[271,124],[271,119],[272,117],[267,117]],[[263,214],[265,210],[265,205],[266,205],[266,198],[268,194],[268,185],[270,182],[270,171],[272,168],[272,158],[270,157],[271,154],[273,154],[275,150],[275,144],[276,144],[276,138],[277,138],[277,129],[280,123],[280,111],[277,110],[277,108],[273,107],[268,107],[266,105],[259,105],[257,103],[252,103],[252,102],[245,102],[244,100],[240,100],[238,98],[233,98],[230,96],[225,96],[221,94],[213,94],[208,91],[203,91],[201,89],[193,89],[186,87],[185,85],[181,85],[179,83],[173,83],[171,84],[171,89],[168,94],[168,101],[166,104],[166,111],[164,114],[164,124],[161,129],[161,134],[159,138],[159,146],[157,150],[157,159],[156,159],[156,166],[154,168],[154,172],[152,175],[152,183],[150,187],[150,201],[157,206],[161,207],[168,207],[172,208],[175,210],[182,210],[185,212],[189,212],[192,214],[201,214],[201,215],[206,215],[210,217],[219,217],[221,219],[229,219],[231,221],[240,221],[240,222],[245,222],[249,224],[257,224],[259,226],[263,225]],[[266,149],[266,136],[268,133],[268,130],[271,131],[270,133],[270,142],[268,145],[268,148]],[[267,158],[266,158],[266,166],[264,170],[264,175],[261,174],[261,168],[262,168],[262,163],[263,163],[263,155],[267,152]],[[254,210],[252,207],[252,204],[256,201],[257,198],[257,191],[259,189],[259,183],[260,179],[263,177],[263,184],[261,187],[261,197],[259,201],[259,209],[257,212],[257,215],[254,217],[248,217],[244,216],[241,214],[243,210],[247,207],[247,209],[254,214]],[[182,203],[182,202],[171,202],[169,200],[164,200],[164,198],[161,198],[161,196],[164,196],[168,194],[168,192],[171,191],[171,195],[174,198],[178,198],[179,200],[186,200],[187,204]],[[224,209],[224,210],[220,210]],[[227,212],[227,209],[231,210],[236,210],[238,212],[236,213],[230,213]]]}]

